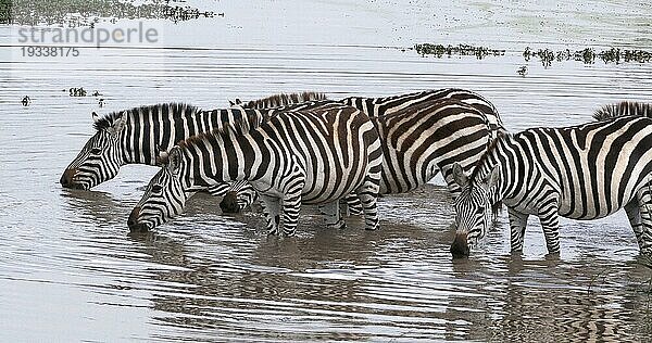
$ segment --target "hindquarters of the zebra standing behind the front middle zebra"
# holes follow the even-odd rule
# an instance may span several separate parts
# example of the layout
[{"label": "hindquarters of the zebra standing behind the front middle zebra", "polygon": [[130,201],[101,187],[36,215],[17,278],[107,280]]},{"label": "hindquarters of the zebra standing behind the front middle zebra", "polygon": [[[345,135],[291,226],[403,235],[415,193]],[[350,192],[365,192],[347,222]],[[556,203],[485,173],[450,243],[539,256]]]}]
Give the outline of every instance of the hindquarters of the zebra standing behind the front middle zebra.
[{"label": "hindquarters of the zebra standing behind the front middle zebra", "polygon": [[[464,170],[471,170],[497,132],[504,131],[493,104],[457,88],[386,98],[351,97],[337,102],[365,112],[378,129],[385,155],[380,194],[414,190],[442,172],[449,190],[456,195],[460,188],[452,179],[452,163],[459,161]],[[266,103],[250,101],[242,106],[261,109]],[[347,202],[351,214],[362,212],[354,194]],[[494,213],[499,207],[497,204]]]}]

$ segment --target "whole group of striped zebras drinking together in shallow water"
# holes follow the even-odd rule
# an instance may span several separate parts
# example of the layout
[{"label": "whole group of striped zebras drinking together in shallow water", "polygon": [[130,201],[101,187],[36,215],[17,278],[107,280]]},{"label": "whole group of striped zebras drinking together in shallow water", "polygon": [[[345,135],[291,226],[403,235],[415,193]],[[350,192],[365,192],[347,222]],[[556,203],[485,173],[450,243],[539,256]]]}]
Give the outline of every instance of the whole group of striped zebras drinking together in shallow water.
[{"label": "whole group of striped zebras drinking together in shallow water", "polygon": [[166,103],[99,117],[61,185],[88,190],[126,164],[160,166],[128,216],[148,231],[197,192],[223,212],[261,200],[271,234],[294,233],[301,204],[331,228],[340,203],[379,227],[377,196],[409,192],[441,173],[454,199],[453,256],[467,256],[506,205],[513,252],[527,218],[541,221],[556,254],[559,217],[594,219],[625,208],[642,254],[652,255],[652,104],[623,102],[595,122],[510,134],[496,107],[463,89],[329,100],[277,94],[228,109]]}]

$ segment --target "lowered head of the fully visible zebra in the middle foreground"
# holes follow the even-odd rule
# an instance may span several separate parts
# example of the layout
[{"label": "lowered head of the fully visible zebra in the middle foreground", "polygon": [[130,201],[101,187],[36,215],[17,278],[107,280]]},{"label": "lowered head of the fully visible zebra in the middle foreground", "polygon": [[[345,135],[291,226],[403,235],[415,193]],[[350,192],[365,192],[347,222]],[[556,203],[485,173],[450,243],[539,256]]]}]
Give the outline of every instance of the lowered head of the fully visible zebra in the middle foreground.
[{"label": "lowered head of the fully visible zebra in the middle foreground", "polygon": [[129,214],[127,226],[131,232],[146,232],[174,218],[192,195],[181,185],[185,164],[181,150],[174,147],[170,154],[162,153],[159,161],[163,167],[150,180],[145,195]]}]

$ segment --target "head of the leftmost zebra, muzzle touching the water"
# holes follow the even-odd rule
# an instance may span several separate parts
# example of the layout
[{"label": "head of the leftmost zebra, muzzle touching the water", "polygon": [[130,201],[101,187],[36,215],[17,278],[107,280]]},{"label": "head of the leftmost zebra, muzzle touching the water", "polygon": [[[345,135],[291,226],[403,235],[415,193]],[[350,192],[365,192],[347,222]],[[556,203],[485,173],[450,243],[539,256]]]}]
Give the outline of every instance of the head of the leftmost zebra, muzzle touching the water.
[{"label": "head of the leftmost zebra, muzzle touching the water", "polygon": [[125,164],[121,134],[127,122],[126,113],[100,119],[93,112],[92,118],[97,132],[63,172],[60,182],[65,188],[88,190],[114,178]]}]

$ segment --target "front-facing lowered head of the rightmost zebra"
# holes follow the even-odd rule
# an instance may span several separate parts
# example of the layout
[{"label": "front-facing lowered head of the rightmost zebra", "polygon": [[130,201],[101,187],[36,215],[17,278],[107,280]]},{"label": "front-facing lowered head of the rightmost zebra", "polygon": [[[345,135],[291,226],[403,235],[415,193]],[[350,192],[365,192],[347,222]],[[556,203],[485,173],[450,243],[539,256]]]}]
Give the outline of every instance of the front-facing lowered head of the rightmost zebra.
[{"label": "front-facing lowered head of the rightmost zebra", "polygon": [[471,252],[471,245],[485,237],[487,228],[491,224],[491,192],[498,185],[500,174],[498,167],[494,167],[486,177],[475,174],[468,177],[455,163],[453,178],[462,191],[455,199],[456,231],[451,253],[453,257],[465,257]]}]

